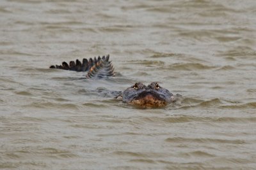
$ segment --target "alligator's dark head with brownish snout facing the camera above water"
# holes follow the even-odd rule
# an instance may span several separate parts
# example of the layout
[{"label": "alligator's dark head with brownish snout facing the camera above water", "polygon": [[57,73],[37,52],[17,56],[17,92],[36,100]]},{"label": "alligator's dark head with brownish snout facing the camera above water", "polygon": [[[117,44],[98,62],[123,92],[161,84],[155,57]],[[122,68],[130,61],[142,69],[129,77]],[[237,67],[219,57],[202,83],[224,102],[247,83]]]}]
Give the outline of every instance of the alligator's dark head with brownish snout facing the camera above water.
[{"label": "alligator's dark head with brownish snout facing the camera above water", "polygon": [[173,94],[169,90],[160,87],[157,82],[153,82],[148,86],[143,85],[143,83],[135,83],[117,98],[142,108],[155,108],[171,103],[173,101],[172,96]]}]

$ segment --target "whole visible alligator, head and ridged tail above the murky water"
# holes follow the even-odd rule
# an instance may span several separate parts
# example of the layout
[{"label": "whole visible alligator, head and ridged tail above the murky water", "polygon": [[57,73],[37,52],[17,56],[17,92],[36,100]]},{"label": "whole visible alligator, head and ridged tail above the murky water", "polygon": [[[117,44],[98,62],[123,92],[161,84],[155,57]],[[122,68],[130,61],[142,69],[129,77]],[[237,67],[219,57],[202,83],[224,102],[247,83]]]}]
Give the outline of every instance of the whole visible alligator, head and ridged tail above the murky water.
[{"label": "whole visible alligator, head and ridged tail above the murky water", "polygon": [[[106,57],[98,57],[97,59],[96,57],[94,57],[94,59],[90,58],[89,60],[83,59],[83,62],[77,59],[76,62],[70,61],[69,65],[67,62],[62,62],[62,65],[50,66],[50,68],[70,71],[88,71],[86,74],[86,78],[88,79],[115,76],[113,64],[109,61],[109,55],[106,55]],[[179,96],[179,94],[173,96],[169,90],[159,86],[157,82],[152,82],[147,86],[141,82],[137,82],[123,92],[120,92],[115,99],[141,108],[157,108],[175,102],[177,96]]]}]

